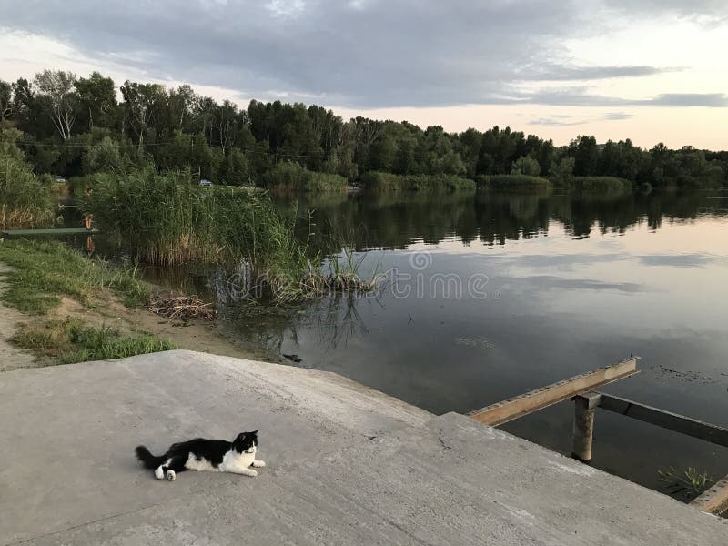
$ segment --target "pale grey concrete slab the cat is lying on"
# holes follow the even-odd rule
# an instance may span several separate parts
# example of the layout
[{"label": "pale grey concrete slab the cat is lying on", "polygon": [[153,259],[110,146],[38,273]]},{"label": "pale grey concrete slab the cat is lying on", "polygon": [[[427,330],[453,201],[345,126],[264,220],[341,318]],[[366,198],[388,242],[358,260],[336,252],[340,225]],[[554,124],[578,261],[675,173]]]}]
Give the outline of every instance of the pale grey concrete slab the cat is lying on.
[{"label": "pale grey concrete slab the cat is lying on", "polygon": [[[170,351],[0,374],[0,543],[724,544],[728,521],[335,374]],[[260,429],[258,478],[132,450]]]}]

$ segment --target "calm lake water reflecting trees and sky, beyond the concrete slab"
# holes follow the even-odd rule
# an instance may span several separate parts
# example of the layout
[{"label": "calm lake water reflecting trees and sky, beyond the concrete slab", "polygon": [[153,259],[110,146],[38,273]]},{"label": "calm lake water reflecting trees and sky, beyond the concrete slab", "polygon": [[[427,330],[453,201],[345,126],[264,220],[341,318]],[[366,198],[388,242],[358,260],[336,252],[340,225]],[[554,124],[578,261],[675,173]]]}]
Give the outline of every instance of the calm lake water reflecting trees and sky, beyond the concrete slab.
[{"label": "calm lake water reflecting trees and sky, beyond the concrete slab", "polygon": [[[220,331],[258,354],[298,355],[298,366],[437,414],[639,355],[642,373],[603,389],[728,425],[728,193],[353,194],[299,205],[312,229],[356,241],[363,276],[387,279],[376,297],[286,314],[224,305]],[[224,282],[191,278],[198,289]],[[568,454],[572,411],[566,402],[502,428]],[[597,410],[592,464],[664,490],[658,470],[671,466],[722,478],[728,450]]]}]

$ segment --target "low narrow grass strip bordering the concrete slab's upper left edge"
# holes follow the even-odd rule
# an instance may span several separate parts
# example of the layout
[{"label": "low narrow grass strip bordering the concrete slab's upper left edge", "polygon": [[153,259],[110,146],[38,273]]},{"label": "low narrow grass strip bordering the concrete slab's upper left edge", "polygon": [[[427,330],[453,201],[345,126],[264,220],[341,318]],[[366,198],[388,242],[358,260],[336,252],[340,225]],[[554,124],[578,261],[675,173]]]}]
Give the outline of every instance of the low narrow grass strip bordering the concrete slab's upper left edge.
[{"label": "low narrow grass strip bordering the concrete slab's upper left edge", "polygon": [[167,340],[148,332],[125,336],[107,326],[84,325],[80,319],[47,320],[23,326],[13,341],[23,349],[55,359],[61,364],[88,360],[123,359],[134,355],[177,349]]}]

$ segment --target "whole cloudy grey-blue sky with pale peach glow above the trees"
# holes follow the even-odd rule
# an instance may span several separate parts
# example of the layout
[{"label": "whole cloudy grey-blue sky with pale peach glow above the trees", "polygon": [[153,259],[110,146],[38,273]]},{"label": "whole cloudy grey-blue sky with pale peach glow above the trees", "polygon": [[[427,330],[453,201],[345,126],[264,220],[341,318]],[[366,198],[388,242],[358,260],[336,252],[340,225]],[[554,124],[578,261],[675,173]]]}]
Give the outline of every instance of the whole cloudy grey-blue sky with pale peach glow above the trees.
[{"label": "whole cloudy grey-blue sky with pale peach glow above the trees", "polygon": [[564,144],[728,148],[726,0],[0,0],[0,78],[46,67]]}]

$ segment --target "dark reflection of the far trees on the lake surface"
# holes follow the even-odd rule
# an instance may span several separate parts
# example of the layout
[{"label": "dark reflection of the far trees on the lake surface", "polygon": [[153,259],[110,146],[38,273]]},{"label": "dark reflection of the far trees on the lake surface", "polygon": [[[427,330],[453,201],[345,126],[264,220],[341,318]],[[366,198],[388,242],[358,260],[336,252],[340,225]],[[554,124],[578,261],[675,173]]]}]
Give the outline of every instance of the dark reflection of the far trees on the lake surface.
[{"label": "dark reflection of the far trees on the lake surface", "polygon": [[342,241],[353,243],[357,250],[406,248],[417,241],[440,243],[447,238],[465,244],[480,240],[504,245],[508,240],[547,233],[551,222],[583,238],[592,232],[623,232],[643,221],[658,229],[665,218],[726,214],[725,201],[711,197],[706,192],[581,197],[405,192],[308,196],[300,201],[300,210],[310,211],[311,220],[299,221],[298,232],[302,238],[313,233],[311,249],[324,253],[338,251]]}]

